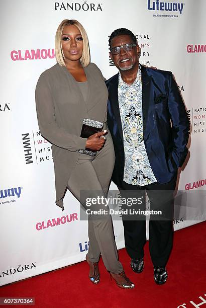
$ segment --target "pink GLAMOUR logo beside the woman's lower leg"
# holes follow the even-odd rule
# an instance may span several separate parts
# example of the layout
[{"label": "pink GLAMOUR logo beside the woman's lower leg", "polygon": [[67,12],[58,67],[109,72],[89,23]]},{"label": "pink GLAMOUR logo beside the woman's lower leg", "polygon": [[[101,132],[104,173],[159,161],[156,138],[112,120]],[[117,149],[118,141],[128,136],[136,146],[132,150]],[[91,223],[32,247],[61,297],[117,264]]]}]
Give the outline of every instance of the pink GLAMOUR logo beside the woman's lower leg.
[{"label": "pink GLAMOUR logo beside the woman's lower leg", "polygon": [[57,226],[74,220],[78,220],[77,213],[72,213],[58,218],[48,219],[46,222],[44,221],[37,222],[36,229],[39,231],[42,229],[46,229],[48,227]]}]

